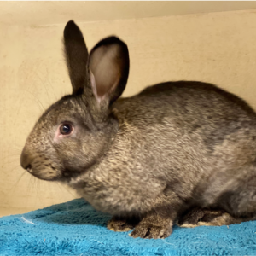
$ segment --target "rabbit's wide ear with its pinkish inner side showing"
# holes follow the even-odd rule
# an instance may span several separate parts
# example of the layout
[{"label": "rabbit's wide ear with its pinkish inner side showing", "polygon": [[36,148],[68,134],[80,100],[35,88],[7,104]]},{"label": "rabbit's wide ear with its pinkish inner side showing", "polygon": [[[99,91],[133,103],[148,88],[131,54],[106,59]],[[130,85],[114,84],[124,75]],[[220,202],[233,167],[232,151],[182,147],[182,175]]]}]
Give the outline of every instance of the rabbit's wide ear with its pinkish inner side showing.
[{"label": "rabbit's wide ear with its pinkish inner side showing", "polygon": [[128,48],[119,38],[105,38],[90,51],[88,65],[96,102],[108,108],[125,90],[129,75]]}]

